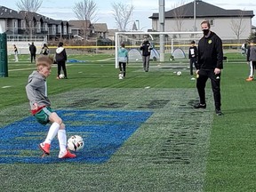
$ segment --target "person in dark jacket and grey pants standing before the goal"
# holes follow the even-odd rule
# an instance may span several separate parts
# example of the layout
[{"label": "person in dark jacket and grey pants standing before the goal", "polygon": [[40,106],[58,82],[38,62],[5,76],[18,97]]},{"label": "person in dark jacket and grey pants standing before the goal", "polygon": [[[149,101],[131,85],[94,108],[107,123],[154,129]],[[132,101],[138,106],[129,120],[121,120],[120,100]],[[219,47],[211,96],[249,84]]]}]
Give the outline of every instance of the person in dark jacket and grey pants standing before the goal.
[{"label": "person in dark jacket and grey pants standing before the goal", "polygon": [[153,47],[151,46],[150,42],[148,41],[148,37],[144,37],[144,41],[142,44],[140,44],[140,50],[142,51],[142,62],[143,62],[143,68],[145,72],[148,72],[149,68],[149,59],[150,59],[150,53]]}]

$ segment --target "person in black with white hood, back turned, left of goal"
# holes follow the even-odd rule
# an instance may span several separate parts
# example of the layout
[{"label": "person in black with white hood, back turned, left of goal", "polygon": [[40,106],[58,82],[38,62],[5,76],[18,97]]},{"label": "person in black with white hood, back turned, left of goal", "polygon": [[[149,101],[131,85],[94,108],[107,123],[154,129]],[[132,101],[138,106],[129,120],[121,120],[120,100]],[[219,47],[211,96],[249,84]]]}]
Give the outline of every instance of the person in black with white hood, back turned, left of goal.
[{"label": "person in black with white hood, back turned, left of goal", "polygon": [[60,79],[61,68],[62,68],[63,73],[64,73],[64,78],[67,79],[68,78],[67,68],[66,68],[67,53],[66,53],[65,48],[63,47],[62,42],[59,43],[58,48],[56,49],[55,60],[56,60],[57,65],[58,65],[57,79]]}]

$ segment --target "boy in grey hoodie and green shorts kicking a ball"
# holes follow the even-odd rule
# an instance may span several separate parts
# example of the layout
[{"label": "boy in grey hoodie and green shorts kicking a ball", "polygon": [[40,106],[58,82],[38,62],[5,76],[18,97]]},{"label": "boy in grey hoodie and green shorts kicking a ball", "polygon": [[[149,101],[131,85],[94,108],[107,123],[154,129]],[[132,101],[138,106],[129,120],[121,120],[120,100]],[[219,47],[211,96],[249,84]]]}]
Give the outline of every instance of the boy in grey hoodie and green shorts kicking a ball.
[{"label": "boy in grey hoodie and green shorts kicking a ball", "polygon": [[67,149],[65,124],[63,124],[60,116],[52,111],[51,101],[47,97],[46,78],[51,74],[52,63],[53,59],[48,56],[42,55],[37,58],[37,70],[28,76],[26,92],[31,113],[36,117],[37,122],[43,125],[51,124],[46,139],[39,144],[39,148],[44,152],[44,155],[50,155],[51,142],[58,135],[59,158],[74,158],[76,155],[70,153]]}]

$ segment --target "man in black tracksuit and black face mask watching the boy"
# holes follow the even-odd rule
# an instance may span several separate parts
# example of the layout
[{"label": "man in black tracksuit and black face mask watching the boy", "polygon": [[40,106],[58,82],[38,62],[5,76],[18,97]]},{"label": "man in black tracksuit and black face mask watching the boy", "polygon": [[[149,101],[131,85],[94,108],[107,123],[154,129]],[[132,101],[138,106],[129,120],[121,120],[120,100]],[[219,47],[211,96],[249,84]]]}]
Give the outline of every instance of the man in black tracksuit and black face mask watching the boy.
[{"label": "man in black tracksuit and black face mask watching the boy", "polygon": [[205,20],[201,23],[204,36],[198,43],[198,58],[196,63],[196,88],[200,103],[195,108],[206,108],[205,84],[207,79],[210,78],[215,112],[217,116],[222,116],[223,114],[220,109],[220,74],[223,68],[222,41],[219,36],[210,30],[210,27],[209,21]]}]

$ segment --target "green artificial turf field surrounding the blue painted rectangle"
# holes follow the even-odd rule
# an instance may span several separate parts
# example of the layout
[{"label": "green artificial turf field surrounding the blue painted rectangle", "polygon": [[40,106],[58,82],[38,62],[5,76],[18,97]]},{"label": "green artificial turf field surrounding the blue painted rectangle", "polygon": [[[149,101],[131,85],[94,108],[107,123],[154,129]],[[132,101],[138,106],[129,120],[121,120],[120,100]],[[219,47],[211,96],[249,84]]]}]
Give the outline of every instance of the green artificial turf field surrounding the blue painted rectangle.
[{"label": "green artificial turf field surrounding the blue painted rectangle", "polygon": [[[68,64],[68,80],[56,80],[52,68],[48,90],[53,108],[150,110],[153,116],[104,164],[0,164],[1,191],[253,191],[255,82],[244,80],[244,57],[226,55],[224,116],[214,114],[210,84],[207,109],[192,108],[198,97],[188,60],[151,62],[148,73],[140,63],[130,63],[127,78],[118,80],[113,55],[69,56],[86,61]],[[10,61],[9,77],[0,78],[1,127],[29,116],[25,85],[35,66],[27,57],[20,57],[19,64]],[[173,73],[177,70],[182,76]],[[78,105],[83,98],[98,101]],[[163,100],[167,104],[161,107]],[[116,101],[117,108],[108,106]]]}]

